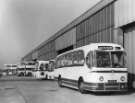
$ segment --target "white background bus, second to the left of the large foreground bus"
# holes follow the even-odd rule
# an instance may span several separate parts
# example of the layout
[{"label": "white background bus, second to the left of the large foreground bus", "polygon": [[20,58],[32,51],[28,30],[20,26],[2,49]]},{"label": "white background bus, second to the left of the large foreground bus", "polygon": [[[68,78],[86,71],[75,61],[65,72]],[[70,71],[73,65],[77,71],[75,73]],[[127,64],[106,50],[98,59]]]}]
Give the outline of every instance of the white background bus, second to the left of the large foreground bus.
[{"label": "white background bus, second to the left of the large foreground bus", "polygon": [[49,61],[36,61],[36,68],[33,71],[33,75],[36,79],[45,79],[45,71],[49,66]]}]

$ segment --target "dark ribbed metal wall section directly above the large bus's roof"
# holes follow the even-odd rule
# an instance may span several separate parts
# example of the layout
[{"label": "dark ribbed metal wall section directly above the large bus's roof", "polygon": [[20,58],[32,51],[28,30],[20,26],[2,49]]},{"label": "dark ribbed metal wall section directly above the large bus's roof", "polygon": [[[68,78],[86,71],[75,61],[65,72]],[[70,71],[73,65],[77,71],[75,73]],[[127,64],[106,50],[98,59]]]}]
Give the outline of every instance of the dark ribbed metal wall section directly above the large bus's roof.
[{"label": "dark ribbed metal wall section directly above the large bus's roof", "polygon": [[76,27],[76,47],[92,42],[113,42],[114,4],[110,4]]}]

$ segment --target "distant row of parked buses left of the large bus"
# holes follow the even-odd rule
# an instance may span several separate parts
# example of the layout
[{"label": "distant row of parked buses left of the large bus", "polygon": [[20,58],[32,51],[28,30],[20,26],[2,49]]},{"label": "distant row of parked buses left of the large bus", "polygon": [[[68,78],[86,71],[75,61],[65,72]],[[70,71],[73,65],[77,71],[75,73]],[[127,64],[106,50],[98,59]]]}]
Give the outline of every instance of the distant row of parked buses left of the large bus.
[{"label": "distant row of parked buses left of the large bus", "polygon": [[19,77],[34,77],[35,79],[54,79],[54,61],[27,61],[18,65],[17,75]]}]

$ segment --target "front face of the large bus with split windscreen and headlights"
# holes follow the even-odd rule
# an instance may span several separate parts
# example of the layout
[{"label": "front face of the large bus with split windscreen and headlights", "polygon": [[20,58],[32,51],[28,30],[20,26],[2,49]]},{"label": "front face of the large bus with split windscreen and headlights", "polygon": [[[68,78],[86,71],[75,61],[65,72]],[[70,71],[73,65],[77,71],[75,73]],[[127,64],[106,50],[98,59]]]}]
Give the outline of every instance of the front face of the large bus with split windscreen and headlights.
[{"label": "front face of the large bus with split windscreen and headlights", "polygon": [[120,45],[99,45],[93,51],[93,91],[127,91],[126,53]]}]

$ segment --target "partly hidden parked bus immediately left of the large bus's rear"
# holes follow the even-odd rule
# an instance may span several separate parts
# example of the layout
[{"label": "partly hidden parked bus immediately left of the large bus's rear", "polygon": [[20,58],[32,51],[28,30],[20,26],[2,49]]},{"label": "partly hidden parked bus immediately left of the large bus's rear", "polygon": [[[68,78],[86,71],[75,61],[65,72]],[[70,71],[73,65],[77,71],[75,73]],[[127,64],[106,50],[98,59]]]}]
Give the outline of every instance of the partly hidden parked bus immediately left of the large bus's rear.
[{"label": "partly hidden parked bus immediately left of the large bus's rear", "polygon": [[55,68],[55,61],[50,60],[48,64],[48,68],[45,70],[45,79],[54,79],[54,68]]}]

